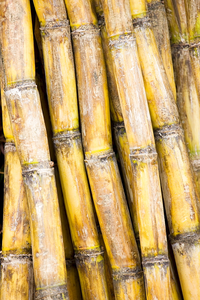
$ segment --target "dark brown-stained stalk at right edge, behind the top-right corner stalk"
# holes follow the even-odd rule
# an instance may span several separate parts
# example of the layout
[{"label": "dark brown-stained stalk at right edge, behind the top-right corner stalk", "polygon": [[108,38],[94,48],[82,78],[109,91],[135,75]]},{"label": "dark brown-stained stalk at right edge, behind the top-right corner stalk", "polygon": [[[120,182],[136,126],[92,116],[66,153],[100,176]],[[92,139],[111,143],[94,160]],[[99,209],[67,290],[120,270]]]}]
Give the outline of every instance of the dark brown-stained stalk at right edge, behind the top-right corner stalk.
[{"label": "dark brown-stained stalk at right edge, behind the top-right corner stalk", "polygon": [[[190,61],[184,0],[165,1],[172,61],[177,89],[177,105],[185,140],[200,194],[200,108]],[[183,67],[184,66],[184,67]]]}]

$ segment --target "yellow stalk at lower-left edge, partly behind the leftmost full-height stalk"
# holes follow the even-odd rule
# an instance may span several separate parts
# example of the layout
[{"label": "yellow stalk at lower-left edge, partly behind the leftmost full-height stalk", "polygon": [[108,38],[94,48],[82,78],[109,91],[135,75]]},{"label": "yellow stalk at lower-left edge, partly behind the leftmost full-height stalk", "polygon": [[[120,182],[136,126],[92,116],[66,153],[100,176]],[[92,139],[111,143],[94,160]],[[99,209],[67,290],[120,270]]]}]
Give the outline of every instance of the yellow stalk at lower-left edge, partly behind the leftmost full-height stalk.
[{"label": "yellow stalk at lower-left edge, partly behind the leftmost full-height stalk", "polygon": [[0,72],[3,130],[6,138],[0,299],[34,300],[35,286],[28,207],[22,169],[14,145],[5,102],[2,68]]}]

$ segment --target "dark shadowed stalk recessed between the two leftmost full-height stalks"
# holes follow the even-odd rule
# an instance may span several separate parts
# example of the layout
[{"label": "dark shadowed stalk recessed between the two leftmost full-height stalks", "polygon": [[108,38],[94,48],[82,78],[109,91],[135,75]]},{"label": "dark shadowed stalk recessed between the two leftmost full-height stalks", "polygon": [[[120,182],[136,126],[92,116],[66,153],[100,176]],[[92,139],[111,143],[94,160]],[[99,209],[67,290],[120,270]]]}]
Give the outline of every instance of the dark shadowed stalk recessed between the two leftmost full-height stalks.
[{"label": "dark shadowed stalk recessed between the two leftmost full-height stalks", "polygon": [[[49,115],[49,106],[48,106],[48,99],[46,90],[46,80],[45,74],[43,77],[44,71],[41,71],[43,65],[41,61],[43,61],[43,52],[42,52],[42,40],[40,35],[40,23],[38,17],[36,15],[36,22],[35,22],[35,29],[34,35],[36,39],[35,48],[35,64],[36,64],[36,84],[40,94],[40,102],[42,106],[45,127],[47,131],[48,143],[49,143],[49,152],[51,161],[54,161],[54,173],[55,173],[55,180],[56,180],[56,188],[58,194],[58,202],[59,202],[59,209],[60,209],[60,220],[62,226],[62,233],[63,233],[63,245],[65,250],[65,261],[66,261],[66,270],[67,270],[67,290],[69,294],[69,300],[79,300],[82,298],[81,296],[81,286],[80,280],[78,277],[78,270],[76,268],[76,263],[74,259],[74,248],[72,244],[71,233],[69,229],[69,222],[66,215],[66,209],[63,199],[63,193],[60,184],[60,177],[58,173],[58,167],[54,152],[54,146],[52,141],[52,128],[51,128],[51,120]],[[38,48],[41,51],[38,51]]]}]

